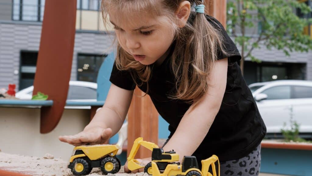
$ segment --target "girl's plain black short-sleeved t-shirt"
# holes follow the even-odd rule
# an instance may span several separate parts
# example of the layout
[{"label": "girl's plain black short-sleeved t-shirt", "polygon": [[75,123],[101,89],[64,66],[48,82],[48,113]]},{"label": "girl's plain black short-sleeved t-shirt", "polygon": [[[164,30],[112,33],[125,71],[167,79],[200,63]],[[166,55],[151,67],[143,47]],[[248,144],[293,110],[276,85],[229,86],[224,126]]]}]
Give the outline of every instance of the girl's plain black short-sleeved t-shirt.
[{"label": "girl's plain black short-sleeved t-shirt", "polygon": [[[220,53],[218,55],[218,59],[228,58],[226,91],[209,132],[193,153],[199,165],[202,159],[209,158],[212,154],[217,155],[220,161],[244,157],[261,143],[266,134],[265,124],[237,63],[241,59],[239,51],[222,24],[211,16],[206,15],[206,18],[215,28],[220,27],[225,40],[225,49],[233,54],[227,56]],[[168,98],[168,95],[172,95],[175,90],[175,78],[170,69],[173,49],[160,66],[153,67],[148,91],[158,113],[169,123],[169,138],[191,105],[183,100]],[[119,71],[115,64],[110,82],[127,90],[133,90],[136,86],[129,71]],[[146,92],[146,83],[139,88]],[[192,133],[192,129],[186,130]]]}]

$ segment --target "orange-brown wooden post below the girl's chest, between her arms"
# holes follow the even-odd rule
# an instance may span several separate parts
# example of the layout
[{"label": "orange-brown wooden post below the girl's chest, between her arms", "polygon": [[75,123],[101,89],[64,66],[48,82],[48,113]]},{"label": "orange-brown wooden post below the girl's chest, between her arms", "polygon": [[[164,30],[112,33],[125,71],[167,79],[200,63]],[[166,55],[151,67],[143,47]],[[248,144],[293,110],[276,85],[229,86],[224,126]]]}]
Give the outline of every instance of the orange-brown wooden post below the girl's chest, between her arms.
[{"label": "orange-brown wooden post below the girl's chest, between her arms", "polygon": [[[158,112],[148,95],[144,96],[138,87],[134,90],[134,96],[128,112],[128,144],[129,155],[133,142],[142,137],[144,141],[158,144]],[[144,97],[142,97],[144,96]],[[135,158],[149,158],[151,151],[141,147]]]}]

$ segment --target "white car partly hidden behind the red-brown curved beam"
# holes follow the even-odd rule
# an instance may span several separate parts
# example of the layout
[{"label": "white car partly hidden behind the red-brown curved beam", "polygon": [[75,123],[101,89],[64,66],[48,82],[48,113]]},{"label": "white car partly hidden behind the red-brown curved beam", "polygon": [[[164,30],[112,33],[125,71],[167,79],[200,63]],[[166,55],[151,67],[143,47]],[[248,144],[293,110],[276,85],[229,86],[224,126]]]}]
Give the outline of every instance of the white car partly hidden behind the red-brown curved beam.
[{"label": "white car partly hidden behind the red-brown curved beam", "polygon": [[[97,101],[97,83],[85,82],[85,81],[69,81],[69,90],[67,95],[67,101],[83,101],[83,102],[96,102]],[[33,86],[20,90],[15,94],[16,98],[22,100],[31,100],[32,91],[34,90]],[[86,107],[69,107],[65,108],[91,108]]]}]

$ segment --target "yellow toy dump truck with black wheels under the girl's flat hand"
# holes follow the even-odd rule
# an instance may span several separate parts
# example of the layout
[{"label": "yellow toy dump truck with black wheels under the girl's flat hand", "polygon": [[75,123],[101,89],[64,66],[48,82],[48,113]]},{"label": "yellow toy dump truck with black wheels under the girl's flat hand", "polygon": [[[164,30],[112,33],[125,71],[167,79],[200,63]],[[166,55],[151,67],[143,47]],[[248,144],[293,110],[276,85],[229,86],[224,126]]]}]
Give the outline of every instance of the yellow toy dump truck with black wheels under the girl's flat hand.
[{"label": "yellow toy dump truck with black wheels under the girl's flat hand", "polygon": [[84,145],[74,148],[68,168],[74,175],[87,175],[92,168],[101,168],[104,175],[117,173],[120,161],[116,158],[118,145]]}]

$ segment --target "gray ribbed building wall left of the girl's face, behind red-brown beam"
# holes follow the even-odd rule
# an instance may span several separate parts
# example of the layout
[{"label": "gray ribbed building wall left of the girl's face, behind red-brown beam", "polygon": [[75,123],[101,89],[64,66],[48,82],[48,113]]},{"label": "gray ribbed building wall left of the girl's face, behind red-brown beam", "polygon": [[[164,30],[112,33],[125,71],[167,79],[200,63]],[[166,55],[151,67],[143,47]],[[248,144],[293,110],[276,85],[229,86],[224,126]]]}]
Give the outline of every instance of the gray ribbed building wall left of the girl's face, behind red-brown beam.
[{"label": "gray ribbed building wall left of the girl's face, behind red-brown beam", "polygon": [[[38,51],[41,23],[0,21],[0,88],[9,83],[19,84],[20,51]],[[99,33],[76,33],[71,80],[77,78],[77,54],[108,54],[112,50],[112,36]],[[57,52],[57,51],[56,51]]]}]

